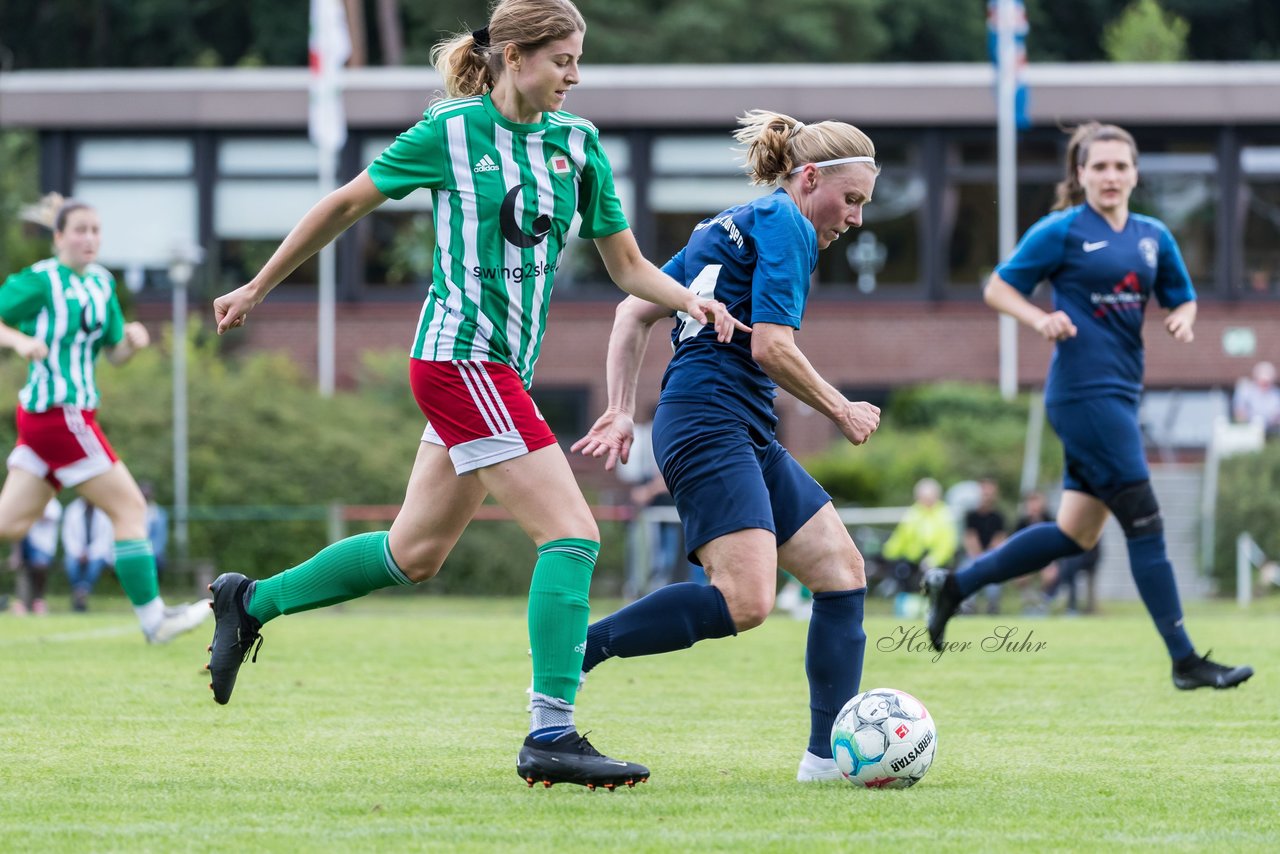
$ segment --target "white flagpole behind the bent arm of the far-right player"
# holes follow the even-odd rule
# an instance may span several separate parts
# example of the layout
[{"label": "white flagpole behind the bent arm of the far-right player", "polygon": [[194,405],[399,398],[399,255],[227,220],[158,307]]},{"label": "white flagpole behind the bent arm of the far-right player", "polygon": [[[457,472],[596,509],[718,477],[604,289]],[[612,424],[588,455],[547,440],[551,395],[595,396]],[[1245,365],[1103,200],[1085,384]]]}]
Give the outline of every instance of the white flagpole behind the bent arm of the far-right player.
[{"label": "white flagpole behind the bent arm of the far-right player", "polygon": [[[1018,73],[1014,45],[1014,0],[996,5],[996,157],[998,183],[1000,257],[1007,259],[1018,242],[1018,128],[1014,118]],[[1018,321],[1000,315],[1000,393],[1018,394]]]}]

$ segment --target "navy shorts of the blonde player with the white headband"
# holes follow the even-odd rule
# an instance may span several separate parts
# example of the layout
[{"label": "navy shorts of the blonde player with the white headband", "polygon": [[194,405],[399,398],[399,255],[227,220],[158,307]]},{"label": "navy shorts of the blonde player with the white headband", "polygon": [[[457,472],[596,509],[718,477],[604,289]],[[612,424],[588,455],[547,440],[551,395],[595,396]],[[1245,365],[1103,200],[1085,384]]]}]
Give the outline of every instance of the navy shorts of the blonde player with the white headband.
[{"label": "navy shorts of the blonde player with the white headband", "polygon": [[776,438],[714,405],[660,403],[653,449],[694,563],[700,547],[748,528],[773,531],[781,545],[831,501]]}]

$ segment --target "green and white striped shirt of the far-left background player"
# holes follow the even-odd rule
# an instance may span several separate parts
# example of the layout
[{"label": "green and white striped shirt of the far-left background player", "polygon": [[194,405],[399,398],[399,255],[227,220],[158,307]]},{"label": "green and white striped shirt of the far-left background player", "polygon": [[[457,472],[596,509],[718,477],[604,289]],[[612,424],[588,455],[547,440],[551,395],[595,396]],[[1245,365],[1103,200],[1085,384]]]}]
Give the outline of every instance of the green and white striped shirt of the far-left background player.
[{"label": "green and white striped shirt of the far-left background player", "polygon": [[97,408],[93,360],[124,337],[115,279],[106,268],[90,264],[76,273],[46,259],[14,273],[0,287],[0,320],[49,347],[49,356],[31,362],[18,393],[22,408]]}]

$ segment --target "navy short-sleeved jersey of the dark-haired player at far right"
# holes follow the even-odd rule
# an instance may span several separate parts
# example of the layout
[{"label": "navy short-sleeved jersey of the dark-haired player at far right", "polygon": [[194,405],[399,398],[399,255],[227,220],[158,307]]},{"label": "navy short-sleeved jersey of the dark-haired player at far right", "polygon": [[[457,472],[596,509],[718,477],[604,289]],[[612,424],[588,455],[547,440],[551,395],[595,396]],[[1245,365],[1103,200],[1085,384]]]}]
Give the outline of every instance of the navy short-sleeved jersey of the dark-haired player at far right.
[{"label": "navy short-sleeved jersey of the dark-haired player at far right", "polygon": [[1169,228],[1129,214],[1116,232],[1088,205],[1032,225],[996,275],[1030,296],[1042,279],[1053,286],[1053,309],[1076,335],[1057,342],[1044,383],[1046,403],[1103,394],[1142,394],[1142,321],[1147,300],[1176,309],[1196,298],[1190,275]]}]

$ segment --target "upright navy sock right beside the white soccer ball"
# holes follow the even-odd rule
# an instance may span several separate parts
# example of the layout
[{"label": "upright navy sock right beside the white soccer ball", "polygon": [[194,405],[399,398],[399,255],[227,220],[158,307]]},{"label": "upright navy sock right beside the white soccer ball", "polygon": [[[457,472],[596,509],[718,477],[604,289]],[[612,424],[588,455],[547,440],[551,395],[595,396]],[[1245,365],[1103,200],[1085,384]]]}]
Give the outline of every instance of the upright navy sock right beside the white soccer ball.
[{"label": "upright navy sock right beside the white soccer ball", "polygon": [[831,727],[863,680],[867,588],[813,594],[804,672],[809,676],[809,753],[831,758]]}]

